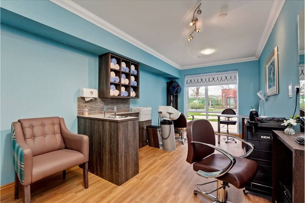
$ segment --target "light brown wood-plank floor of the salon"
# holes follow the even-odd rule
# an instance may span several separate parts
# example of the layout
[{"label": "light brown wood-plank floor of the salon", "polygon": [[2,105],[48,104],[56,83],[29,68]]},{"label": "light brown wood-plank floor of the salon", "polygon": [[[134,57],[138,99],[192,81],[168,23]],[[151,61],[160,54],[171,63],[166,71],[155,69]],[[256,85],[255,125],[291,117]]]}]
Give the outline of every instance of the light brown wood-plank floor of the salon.
[{"label": "light brown wood-plank floor of the salon", "polygon": [[[241,155],[241,143],[221,141],[217,144],[233,155]],[[176,151],[144,147],[139,150],[140,173],[121,186],[116,186],[89,173],[89,188],[84,189],[82,169],[73,167],[66,172],[31,185],[31,202],[211,202],[203,196],[194,195],[195,183],[205,179],[193,171],[192,165],[185,161],[187,143],[177,143]],[[203,191],[216,188],[216,183],[203,186]],[[228,201],[231,202],[271,202],[267,198],[253,194],[243,194],[242,189],[234,186],[227,188]],[[214,194],[216,195],[216,193]],[[14,200],[14,187],[1,191],[1,202],[22,202]]]}]

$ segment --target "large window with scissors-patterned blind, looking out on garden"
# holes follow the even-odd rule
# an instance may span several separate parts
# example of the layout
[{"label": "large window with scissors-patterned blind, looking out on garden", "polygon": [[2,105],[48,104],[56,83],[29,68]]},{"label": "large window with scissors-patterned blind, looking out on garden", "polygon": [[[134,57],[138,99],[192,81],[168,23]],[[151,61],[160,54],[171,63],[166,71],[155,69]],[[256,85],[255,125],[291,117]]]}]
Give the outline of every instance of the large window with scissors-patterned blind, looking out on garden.
[{"label": "large window with scissors-patterned blind, looking out on garden", "polygon": [[[226,108],[237,112],[237,72],[190,76],[185,77],[185,82],[187,116],[193,115],[195,119],[208,119],[213,129],[217,131],[218,114],[221,114]],[[188,117],[188,120],[191,119],[192,117]],[[230,118],[230,120],[238,121],[237,118]],[[221,132],[226,132],[226,130],[227,125],[221,125]],[[238,123],[229,125],[229,132],[238,133]]]}]

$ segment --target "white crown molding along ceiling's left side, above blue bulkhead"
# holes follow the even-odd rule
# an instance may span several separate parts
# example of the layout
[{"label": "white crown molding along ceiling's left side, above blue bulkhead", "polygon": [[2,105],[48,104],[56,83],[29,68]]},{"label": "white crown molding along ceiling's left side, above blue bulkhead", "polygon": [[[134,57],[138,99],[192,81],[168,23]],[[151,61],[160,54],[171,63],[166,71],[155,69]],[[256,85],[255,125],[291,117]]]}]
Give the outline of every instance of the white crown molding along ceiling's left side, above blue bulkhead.
[{"label": "white crown molding along ceiling's left side, above blue bulkhead", "polygon": [[156,56],[157,58],[161,59],[164,62],[167,62],[168,64],[174,66],[175,68],[178,69],[181,68],[177,63],[173,62],[172,60],[168,59],[167,57],[163,56],[162,54],[153,50],[152,48],[148,47],[142,42],[136,40],[135,38],[131,37],[127,33],[118,29],[117,27],[114,27],[110,23],[94,15],[93,13],[84,9],[83,7],[77,5],[76,3],[70,0],[50,0],[50,1],[76,14],[77,16],[80,16],[81,18],[88,20],[89,22],[101,27],[102,29],[107,30],[108,32],[116,35],[117,37],[120,37],[121,39],[131,43],[132,45],[135,45],[136,47],[144,50],[145,52],[148,52],[149,54]]}]

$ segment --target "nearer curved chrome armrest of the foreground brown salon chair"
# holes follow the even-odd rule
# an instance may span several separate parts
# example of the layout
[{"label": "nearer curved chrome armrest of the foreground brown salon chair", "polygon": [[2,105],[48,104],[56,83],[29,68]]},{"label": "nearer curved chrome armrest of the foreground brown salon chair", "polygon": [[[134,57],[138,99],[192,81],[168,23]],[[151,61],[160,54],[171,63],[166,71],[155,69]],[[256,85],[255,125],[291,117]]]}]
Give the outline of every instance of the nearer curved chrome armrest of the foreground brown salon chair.
[{"label": "nearer curved chrome armrest of the foreground brown salon chair", "polygon": [[203,176],[205,178],[217,178],[219,176],[222,176],[222,175],[226,174],[235,165],[236,160],[235,160],[234,156],[232,156],[227,151],[224,151],[221,148],[218,148],[218,147],[216,147],[212,144],[207,144],[207,143],[204,143],[204,142],[192,141],[192,143],[203,144],[203,145],[209,146],[211,148],[214,148],[217,151],[219,151],[220,153],[222,153],[223,155],[225,155],[226,157],[228,157],[228,159],[230,159],[230,163],[224,169],[221,169],[219,171],[214,171],[214,172],[205,172],[205,171],[199,170],[199,171],[197,171],[197,174],[199,176]]}]

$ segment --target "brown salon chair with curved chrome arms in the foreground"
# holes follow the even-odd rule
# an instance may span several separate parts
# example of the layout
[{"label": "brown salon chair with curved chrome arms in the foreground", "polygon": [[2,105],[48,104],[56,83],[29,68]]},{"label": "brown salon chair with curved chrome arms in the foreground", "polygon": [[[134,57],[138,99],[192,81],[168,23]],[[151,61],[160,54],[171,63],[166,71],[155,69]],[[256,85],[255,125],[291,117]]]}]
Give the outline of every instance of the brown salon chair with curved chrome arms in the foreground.
[{"label": "brown salon chair with curved chrome arms in the foreground", "polygon": [[[228,135],[248,144],[251,148],[244,155],[232,156],[227,151],[215,146],[214,129],[208,120],[188,122],[186,136],[188,138],[186,161],[193,164],[193,169],[197,171],[197,175],[204,178],[217,179],[207,183],[196,184],[198,190],[194,190],[194,194],[203,195],[214,202],[228,202],[226,187],[229,187],[229,183],[241,189],[250,183],[256,175],[257,163],[246,158],[254,150],[252,143],[239,137]],[[215,149],[220,153],[214,153]],[[199,188],[199,186],[213,182],[217,182],[217,189],[213,191],[204,192]],[[211,195],[215,191],[217,191],[217,197]]]}]

